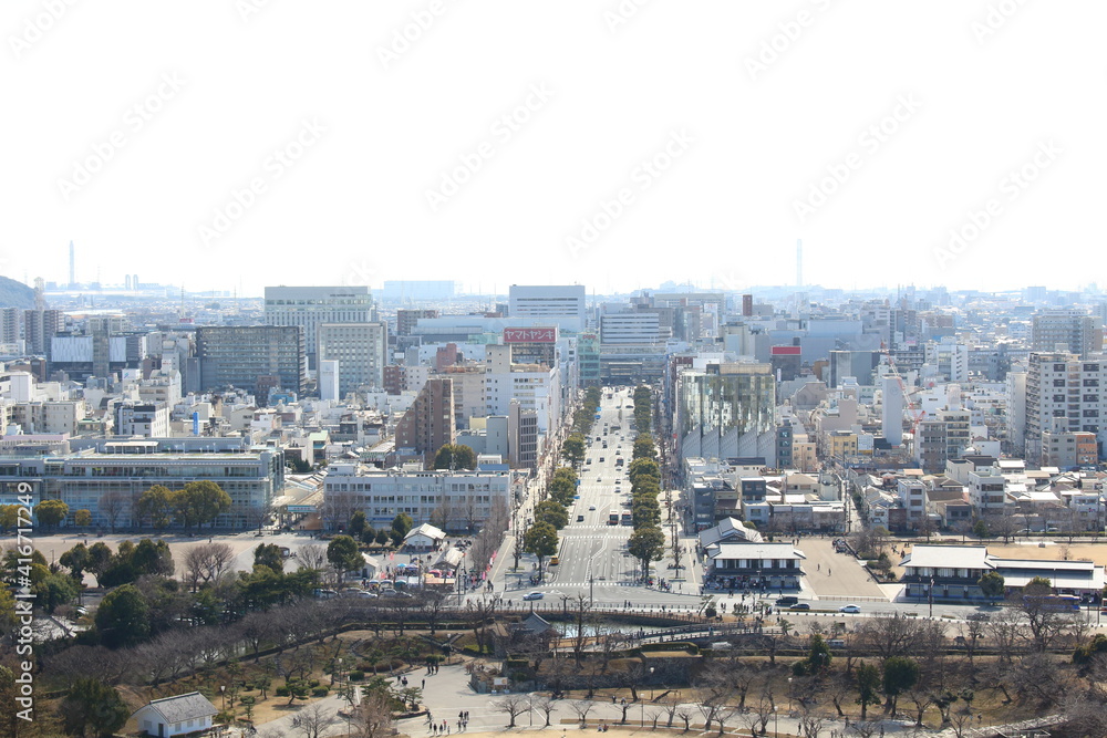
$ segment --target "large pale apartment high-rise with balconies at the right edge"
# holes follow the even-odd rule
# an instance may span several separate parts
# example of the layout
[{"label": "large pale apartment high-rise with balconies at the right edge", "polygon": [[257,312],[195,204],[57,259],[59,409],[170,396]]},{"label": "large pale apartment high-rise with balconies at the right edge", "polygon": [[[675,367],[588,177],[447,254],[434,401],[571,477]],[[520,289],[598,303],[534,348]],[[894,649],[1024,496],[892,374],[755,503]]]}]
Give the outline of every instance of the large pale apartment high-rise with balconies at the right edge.
[{"label": "large pale apartment high-rise with balconies at the right edge", "polygon": [[[1104,430],[1105,364],[1075,353],[1031,352],[1026,371],[1026,458],[1043,455],[1043,434],[1094,433],[1100,446]],[[1058,423],[1064,418],[1065,423]]]}]

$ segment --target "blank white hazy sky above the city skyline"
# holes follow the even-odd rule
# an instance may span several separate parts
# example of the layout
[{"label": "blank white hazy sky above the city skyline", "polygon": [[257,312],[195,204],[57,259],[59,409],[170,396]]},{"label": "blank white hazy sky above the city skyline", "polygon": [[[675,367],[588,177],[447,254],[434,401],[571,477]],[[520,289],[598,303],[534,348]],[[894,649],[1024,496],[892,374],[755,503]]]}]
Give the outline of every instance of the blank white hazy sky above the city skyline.
[{"label": "blank white hazy sky above the city skyline", "polygon": [[[6,0],[22,280],[1073,288],[1107,3]],[[951,243],[951,231],[962,240]],[[1099,279],[1099,281],[1103,281]]]}]

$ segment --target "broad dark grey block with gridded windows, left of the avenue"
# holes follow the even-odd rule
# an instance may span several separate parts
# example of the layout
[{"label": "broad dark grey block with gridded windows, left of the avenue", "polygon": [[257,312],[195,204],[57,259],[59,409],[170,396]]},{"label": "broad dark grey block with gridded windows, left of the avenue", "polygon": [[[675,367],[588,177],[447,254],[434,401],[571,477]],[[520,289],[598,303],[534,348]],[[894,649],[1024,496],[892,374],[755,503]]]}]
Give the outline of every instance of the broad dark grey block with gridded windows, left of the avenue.
[{"label": "broad dark grey block with gridded windows, left of the avenue", "polygon": [[[226,385],[256,392],[277,377],[297,394],[307,382],[303,329],[298,325],[204,325],[196,329],[200,388]],[[268,396],[256,397],[265,405]]]}]

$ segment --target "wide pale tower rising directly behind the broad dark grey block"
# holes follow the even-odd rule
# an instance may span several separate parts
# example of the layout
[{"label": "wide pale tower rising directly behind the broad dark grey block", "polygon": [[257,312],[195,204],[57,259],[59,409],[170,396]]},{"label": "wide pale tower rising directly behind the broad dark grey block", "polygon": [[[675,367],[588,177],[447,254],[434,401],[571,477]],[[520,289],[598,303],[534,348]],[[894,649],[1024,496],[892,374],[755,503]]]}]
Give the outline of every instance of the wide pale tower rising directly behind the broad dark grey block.
[{"label": "wide pale tower rising directly behind the broad dark grey block", "polygon": [[317,368],[319,326],[323,323],[370,323],[376,320],[368,287],[267,287],[266,323],[299,325],[308,367]]}]

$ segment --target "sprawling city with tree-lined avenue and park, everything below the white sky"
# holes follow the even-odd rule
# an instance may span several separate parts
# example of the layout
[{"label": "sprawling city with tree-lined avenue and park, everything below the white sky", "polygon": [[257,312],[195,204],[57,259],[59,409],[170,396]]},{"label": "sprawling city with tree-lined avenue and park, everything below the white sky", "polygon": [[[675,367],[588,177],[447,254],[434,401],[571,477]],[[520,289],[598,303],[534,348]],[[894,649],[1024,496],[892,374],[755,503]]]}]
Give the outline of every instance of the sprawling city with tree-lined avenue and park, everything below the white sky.
[{"label": "sprawling city with tree-lined avenue and park, everything below the white sky", "polygon": [[3,282],[41,735],[1097,719],[1094,287]]}]

